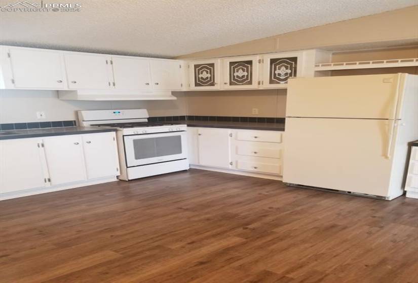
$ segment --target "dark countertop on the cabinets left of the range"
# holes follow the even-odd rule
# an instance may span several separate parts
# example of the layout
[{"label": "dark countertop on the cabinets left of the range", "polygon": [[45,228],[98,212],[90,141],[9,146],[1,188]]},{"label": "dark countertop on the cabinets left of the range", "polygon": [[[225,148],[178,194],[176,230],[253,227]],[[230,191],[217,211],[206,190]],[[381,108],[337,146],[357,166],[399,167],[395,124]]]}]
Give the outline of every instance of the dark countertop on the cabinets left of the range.
[{"label": "dark countertop on the cabinets left of the range", "polygon": [[[7,131],[0,131],[0,140],[1,139],[52,136],[52,135],[114,132],[114,131],[116,131],[115,128],[93,128],[93,127],[59,127],[59,128],[26,129],[26,130],[7,130]],[[2,132],[8,132],[8,133],[13,133],[13,134],[2,135]]]}]

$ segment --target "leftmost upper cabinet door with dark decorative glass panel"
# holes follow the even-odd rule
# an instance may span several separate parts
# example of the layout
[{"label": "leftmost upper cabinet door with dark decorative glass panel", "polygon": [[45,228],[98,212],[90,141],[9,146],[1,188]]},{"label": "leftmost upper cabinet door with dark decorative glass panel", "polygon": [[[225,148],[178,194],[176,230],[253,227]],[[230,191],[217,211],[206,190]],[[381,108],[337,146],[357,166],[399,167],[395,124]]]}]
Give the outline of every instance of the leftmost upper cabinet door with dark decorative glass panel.
[{"label": "leftmost upper cabinet door with dark decorative glass panel", "polygon": [[191,61],[188,66],[190,89],[220,89],[219,59]]}]

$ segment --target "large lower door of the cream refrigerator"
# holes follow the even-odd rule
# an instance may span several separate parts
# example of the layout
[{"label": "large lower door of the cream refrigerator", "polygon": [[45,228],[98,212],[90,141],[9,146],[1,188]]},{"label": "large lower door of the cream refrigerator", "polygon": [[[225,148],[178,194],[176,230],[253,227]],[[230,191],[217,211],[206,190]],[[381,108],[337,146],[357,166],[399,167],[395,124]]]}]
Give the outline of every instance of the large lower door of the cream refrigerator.
[{"label": "large lower door of the cream refrigerator", "polygon": [[283,181],[387,197],[391,121],[287,118]]}]

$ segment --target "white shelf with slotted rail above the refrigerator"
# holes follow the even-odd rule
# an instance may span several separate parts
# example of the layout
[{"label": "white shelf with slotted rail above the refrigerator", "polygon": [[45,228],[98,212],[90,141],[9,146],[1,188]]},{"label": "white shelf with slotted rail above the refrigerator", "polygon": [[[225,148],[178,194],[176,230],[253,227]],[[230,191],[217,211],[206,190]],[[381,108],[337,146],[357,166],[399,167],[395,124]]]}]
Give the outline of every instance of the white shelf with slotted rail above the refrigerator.
[{"label": "white shelf with slotted rail above the refrigerator", "polygon": [[315,64],[315,71],[418,66],[418,58]]}]

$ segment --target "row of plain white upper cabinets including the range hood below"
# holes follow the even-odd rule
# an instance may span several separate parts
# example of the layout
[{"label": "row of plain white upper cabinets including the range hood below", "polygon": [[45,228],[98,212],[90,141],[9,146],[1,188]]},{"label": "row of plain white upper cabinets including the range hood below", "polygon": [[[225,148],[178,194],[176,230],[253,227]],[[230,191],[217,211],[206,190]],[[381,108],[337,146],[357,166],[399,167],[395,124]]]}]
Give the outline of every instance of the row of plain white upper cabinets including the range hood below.
[{"label": "row of plain white upper cabinets including the range hood below", "polygon": [[184,61],[0,46],[0,88],[60,90],[61,99],[175,99]]}]

